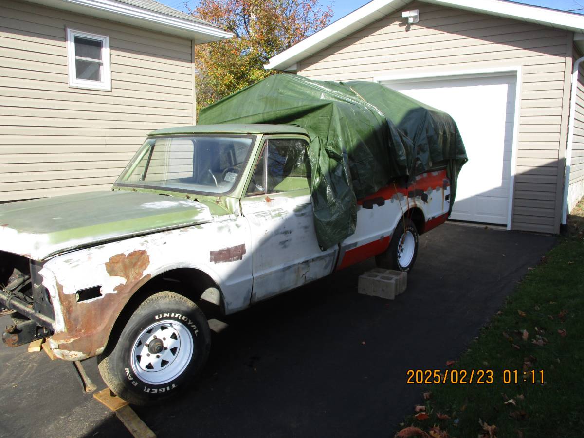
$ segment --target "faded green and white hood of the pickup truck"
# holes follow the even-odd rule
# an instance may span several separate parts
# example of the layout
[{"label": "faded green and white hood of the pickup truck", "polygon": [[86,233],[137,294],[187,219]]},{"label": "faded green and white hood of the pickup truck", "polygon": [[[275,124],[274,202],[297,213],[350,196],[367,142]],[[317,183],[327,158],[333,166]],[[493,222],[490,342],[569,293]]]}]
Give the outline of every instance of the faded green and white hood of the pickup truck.
[{"label": "faded green and white hood of the pickup truck", "polygon": [[213,220],[196,201],[141,192],[91,192],[0,205],[0,250],[57,253]]}]

